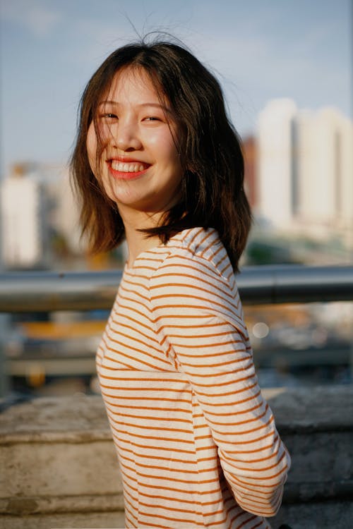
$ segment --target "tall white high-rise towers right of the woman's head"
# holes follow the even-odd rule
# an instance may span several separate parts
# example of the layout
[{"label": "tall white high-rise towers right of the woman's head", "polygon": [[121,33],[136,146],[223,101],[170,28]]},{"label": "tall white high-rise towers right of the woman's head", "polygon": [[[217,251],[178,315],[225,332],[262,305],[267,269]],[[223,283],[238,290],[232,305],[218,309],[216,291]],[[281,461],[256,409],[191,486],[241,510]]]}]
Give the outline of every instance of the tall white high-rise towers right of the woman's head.
[{"label": "tall white high-rise towers right of the woman's head", "polygon": [[270,102],[258,123],[258,214],[281,231],[352,244],[352,145],[352,121],[337,109]]}]

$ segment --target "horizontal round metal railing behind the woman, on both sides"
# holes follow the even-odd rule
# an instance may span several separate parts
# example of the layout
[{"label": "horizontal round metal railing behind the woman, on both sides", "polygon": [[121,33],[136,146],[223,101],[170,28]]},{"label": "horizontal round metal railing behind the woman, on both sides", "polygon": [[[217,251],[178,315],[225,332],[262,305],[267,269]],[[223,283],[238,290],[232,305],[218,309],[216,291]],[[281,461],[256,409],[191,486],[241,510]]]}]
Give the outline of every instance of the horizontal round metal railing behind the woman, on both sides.
[{"label": "horizontal round metal railing behind the woman, on both sides", "polygon": [[[0,312],[109,309],[120,280],[121,271],[5,272]],[[353,267],[245,267],[237,284],[244,305],[353,300]]]}]

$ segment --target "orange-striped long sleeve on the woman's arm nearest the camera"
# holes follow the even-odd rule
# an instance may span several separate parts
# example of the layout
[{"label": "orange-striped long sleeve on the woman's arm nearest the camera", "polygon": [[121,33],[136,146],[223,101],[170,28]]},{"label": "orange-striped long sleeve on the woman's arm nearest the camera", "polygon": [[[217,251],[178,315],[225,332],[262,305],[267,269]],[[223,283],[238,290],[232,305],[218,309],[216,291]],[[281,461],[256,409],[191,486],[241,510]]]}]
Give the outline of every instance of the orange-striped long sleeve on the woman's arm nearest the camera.
[{"label": "orange-striped long sleeve on the woman's arm nearest the camera", "polygon": [[290,458],[263,399],[232,274],[204,257],[167,257],[150,281],[160,345],[191,384],[239,506],[274,516]]}]

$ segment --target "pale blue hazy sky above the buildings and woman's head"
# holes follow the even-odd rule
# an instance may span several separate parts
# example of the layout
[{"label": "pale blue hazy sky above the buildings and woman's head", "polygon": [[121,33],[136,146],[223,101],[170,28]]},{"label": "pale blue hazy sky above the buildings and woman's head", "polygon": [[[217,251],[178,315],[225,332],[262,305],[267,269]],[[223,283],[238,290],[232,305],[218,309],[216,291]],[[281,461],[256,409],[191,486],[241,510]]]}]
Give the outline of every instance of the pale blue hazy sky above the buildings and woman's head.
[{"label": "pale blue hazy sky above the buildings and woman's head", "polygon": [[0,176],[66,164],[80,95],[117,47],[181,39],[220,80],[234,126],[256,133],[277,97],[352,117],[352,0],[0,0]]}]

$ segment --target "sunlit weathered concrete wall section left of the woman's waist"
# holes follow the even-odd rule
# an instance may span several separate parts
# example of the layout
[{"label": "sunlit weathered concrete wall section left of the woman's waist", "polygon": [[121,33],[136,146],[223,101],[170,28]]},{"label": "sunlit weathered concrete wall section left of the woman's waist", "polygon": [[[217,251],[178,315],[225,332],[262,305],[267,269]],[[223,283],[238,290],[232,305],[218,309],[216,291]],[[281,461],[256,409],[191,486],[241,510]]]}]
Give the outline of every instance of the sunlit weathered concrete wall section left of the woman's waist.
[{"label": "sunlit weathered concrete wall section left of the woman's waist", "polygon": [[[118,461],[100,397],[35,399],[0,417],[0,512],[123,509]],[[92,501],[95,496],[99,501]]]}]

